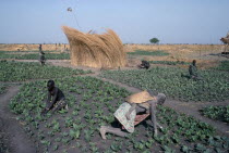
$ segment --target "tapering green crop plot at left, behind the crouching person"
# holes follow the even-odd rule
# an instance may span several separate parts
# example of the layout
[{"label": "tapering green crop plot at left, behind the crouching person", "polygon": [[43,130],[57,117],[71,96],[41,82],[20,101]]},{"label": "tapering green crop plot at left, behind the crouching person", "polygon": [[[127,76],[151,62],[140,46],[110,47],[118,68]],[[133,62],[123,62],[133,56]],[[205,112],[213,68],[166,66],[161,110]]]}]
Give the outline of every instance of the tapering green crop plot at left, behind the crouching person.
[{"label": "tapering green crop plot at left, behind the crouching person", "polygon": [[60,78],[88,73],[92,72],[51,65],[41,66],[39,63],[0,61],[0,81],[22,81],[38,78]]}]

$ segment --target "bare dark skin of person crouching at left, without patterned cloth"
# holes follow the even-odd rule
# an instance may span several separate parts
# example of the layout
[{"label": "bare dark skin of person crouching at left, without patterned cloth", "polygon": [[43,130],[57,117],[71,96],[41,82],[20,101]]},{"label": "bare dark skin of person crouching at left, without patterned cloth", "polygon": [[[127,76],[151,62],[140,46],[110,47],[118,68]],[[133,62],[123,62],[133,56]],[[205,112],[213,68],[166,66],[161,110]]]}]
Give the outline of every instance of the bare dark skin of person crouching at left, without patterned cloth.
[{"label": "bare dark skin of person crouching at left, without patterned cloth", "polygon": [[[59,88],[55,87],[53,84],[48,84],[47,88],[48,88],[48,99],[46,102],[46,109],[43,111],[43,114],[46,114],[48,111],[52,110],[53,105],[58,101],[64,100],[63,92]],[[56,112],[59,109],[60,107],[55,107],[52,112]]]}]

